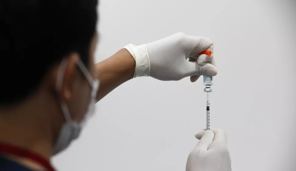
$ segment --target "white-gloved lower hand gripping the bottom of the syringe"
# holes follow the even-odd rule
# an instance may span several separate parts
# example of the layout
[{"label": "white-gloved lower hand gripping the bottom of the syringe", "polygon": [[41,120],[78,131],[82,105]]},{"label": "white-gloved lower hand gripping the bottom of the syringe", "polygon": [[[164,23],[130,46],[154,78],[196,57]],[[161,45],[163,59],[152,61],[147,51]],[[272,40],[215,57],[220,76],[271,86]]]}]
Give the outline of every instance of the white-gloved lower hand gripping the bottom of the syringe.
[{"label": "white-gloved lower hand gripping the bottom of the syringe", "polygon": [[195,137],[200,141],[188,156],[186,171],[231,171],[224,131],[214,128],[200,130]]}]

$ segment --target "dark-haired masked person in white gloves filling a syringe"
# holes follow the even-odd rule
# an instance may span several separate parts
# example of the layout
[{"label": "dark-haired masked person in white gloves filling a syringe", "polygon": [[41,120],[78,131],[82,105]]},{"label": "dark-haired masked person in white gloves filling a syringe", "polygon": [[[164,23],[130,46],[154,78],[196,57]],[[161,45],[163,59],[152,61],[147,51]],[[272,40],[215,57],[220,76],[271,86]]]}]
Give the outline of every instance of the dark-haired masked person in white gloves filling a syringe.
[{"label": "dark-haired masked person in white gloves filling a syringe", "polygon": [[[51,157],[80,135],[94,105],[132,78],[215,76],[213,43],[176,33],[129,44],[94,64],[96,0],[0,2],[0,170],[55,170]],[[200,130],[186,171],[229,171],[226,134]]]}]

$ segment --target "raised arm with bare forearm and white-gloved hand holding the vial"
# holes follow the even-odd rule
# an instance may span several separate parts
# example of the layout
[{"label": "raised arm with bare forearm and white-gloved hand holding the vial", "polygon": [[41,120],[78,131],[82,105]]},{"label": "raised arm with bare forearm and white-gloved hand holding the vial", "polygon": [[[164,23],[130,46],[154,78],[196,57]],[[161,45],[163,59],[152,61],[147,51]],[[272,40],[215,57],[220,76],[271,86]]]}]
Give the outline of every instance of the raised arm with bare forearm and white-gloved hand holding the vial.
[{"label": "raised arm with bare forearm and white-gloved hand holding the vial", "polygon": [[[205,50],[211,51],[212,55],[197,55]],[[184,33],[146,45],[129,44],[96,64],[100,80],[97,100],[133,77],[150,76],[157,80],[171,81],[191,76],[191,81],[194,82],[200,75],[215,76],[217,70],[213,50],[210,39]]]}]

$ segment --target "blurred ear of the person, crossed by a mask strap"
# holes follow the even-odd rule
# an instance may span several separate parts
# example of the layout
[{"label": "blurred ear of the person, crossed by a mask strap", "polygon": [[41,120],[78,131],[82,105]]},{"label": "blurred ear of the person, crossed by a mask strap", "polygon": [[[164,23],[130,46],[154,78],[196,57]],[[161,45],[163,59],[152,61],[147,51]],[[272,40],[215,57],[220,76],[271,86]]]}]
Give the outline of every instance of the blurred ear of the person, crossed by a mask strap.
[{"label": "blurred ear of the person, crossed by a mask strap", "polygon": [[60,98],[63,101],[69,101],[71,99],[71,86],[73,85],[72,82],[74,80],[74,77],[77,76],[77,61],[79,59],[79,54],[76,52],[70,53],[67,57],[66,57],[66,67],[65,70],[62,71],[64,76],[62,78],[62,88],[61,90],[58,90],[56,87],[56,82],[57,82],[57,78],[58,78],[58,72],[60,69],[60,63],[54,67],[53,71],[52,71],[52,75],[51,75],[51,87],[53,90],[55,90],[57,92],[57,94],[60,96]]}]

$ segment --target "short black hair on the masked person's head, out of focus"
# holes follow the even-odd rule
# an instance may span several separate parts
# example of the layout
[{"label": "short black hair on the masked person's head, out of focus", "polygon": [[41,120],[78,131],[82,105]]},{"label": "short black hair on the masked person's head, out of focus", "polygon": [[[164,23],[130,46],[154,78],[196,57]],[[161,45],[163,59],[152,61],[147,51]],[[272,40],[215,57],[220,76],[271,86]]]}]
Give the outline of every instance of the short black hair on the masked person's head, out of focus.
[{"label": "short black hair on the masked person's head, out of focus", "polygon": [[0,107],[34,93],[71,52],[88,66],[97,0],[0,1]]}]

